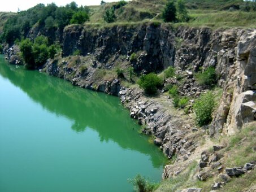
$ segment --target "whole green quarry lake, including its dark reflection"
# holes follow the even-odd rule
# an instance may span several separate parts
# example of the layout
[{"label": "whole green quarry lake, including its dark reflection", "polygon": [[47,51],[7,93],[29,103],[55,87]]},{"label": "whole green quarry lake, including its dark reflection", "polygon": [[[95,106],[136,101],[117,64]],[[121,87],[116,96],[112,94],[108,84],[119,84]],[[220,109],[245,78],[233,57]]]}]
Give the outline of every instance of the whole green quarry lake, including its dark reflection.
[{"label": "whole green quarry lake, including its dark reflection", "polygon": [[0,191],[133,191],[166,160],[117,97],[0,56]]}]

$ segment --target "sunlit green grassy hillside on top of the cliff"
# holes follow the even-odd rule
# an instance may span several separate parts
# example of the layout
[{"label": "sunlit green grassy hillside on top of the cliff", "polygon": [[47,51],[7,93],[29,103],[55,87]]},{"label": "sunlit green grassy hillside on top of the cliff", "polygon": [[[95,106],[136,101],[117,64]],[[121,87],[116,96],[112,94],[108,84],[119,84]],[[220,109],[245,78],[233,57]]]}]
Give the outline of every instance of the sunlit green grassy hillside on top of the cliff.
[{"label": "sunlit green grassy hillside on top of the cliff", "polygon": [[[112,27],[114,25],[138,25],[141,23],[159,22],[163,23],[162,11],[166,0],[133,0],[127,5],[115,11],[116,21],[106,23],[103,15],[107,8],[115,5],[116,2],[106,3],[101,6],[90,6],[91,14],[89,25],[98,27]],[[229,7],[239,7],[242,0],[186,0],[190,21],[188,23],[175,23],[175,27],[186,25],[188,27],[210,27],[216,28],[255,28],[256,12],[225,11]]]}]

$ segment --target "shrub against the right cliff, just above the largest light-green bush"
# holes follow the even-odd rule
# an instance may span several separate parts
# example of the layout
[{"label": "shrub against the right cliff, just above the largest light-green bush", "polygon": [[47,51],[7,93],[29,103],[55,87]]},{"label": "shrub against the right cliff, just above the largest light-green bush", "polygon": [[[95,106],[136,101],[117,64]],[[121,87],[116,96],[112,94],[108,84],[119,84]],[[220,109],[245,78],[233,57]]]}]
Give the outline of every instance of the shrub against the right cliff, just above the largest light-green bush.
[{"label": "shrub against the right cliff, just above the largest light-green bush", "polygon": [[196,80],[199,85],[212,86],[216,84],[217,77],[214,67],[207,68],[204,72],[197,73]]}]

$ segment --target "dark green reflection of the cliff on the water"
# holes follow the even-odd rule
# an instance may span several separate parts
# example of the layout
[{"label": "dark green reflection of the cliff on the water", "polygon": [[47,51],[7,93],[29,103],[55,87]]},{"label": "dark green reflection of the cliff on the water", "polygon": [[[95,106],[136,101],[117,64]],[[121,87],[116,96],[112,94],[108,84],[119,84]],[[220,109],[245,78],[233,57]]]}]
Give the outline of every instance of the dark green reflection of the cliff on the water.
[{"label": "dark green reflection of the cliff on the water", "polygon": [[147,143],[147,137],[138,134],[140,126],[129,118],[129,112],[117,97],[77,88],[59,78],[11,66],[2,56],[0,63],[2,77],[27,93],[45,110],[72,120],[71,128],[75,132],[92,128],[98,132],[101,142],[112,140],[123,149],[149,155],[154,167],[163,166],[166,158],[157,147]]}]

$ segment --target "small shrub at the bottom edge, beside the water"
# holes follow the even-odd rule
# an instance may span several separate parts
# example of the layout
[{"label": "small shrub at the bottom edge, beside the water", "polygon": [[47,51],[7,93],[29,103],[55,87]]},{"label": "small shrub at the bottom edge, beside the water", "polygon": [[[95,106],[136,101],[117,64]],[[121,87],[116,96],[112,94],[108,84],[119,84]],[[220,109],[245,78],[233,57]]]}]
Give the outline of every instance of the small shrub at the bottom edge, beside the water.
[{"label": "small shrub at the bottom edge, beside the water", "polygon": [[157,187],[159,186],[159,184],[152,183],[146,180],[140,174],[137,174],[134,178],[129,179],[128,181],[131,182],[140,192],[150,192],[154,189],[157,189]]}]

